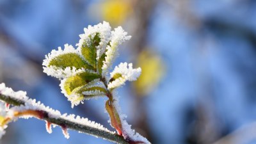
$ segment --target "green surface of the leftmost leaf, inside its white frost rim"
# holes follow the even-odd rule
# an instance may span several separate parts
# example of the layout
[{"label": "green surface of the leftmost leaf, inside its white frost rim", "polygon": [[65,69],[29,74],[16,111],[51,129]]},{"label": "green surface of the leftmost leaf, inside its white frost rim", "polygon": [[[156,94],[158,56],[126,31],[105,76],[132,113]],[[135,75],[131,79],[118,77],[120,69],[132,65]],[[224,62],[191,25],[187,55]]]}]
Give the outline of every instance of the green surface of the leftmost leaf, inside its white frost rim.
[{"label": "green surface of the leftmost leaf, inside its white frost rim", "polygon": [[49,62],[49,66],[56,66],[65,69],[66,67],[76,67],[78,68],[90,68],[86,61],[84,61],[78,54],[76,53],[67,53],[60,54],[56,56]]}]

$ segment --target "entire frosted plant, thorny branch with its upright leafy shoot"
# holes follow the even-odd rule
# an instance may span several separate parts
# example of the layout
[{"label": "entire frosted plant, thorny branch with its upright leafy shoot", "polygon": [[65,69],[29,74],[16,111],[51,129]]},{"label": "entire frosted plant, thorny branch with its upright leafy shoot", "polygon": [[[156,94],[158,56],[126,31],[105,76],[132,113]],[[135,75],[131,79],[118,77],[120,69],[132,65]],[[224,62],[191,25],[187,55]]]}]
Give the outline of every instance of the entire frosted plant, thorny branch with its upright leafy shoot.
[{"label": "entire frosted plant, thorny branch with its upright leafy shoot", "polygon": [[[25,92],[13,92],[0,84],[0,136],[4,134],[9,122],[17,118],[35,117],[45,120],[47,132],[52,132],[51,125],[60,126],[66,138],[69,137],[67,129],[74,129],[115,143],[150,143],[127,124],[114,94],[115,89],[126,81],[136,81],[141,74],[141,68],[132,68],[132,63],[125,62],[109,72],[118,53],[118,45],[129,40],[131,36],[127,36],[127,32],[120,26],[111,31],[108,22],[88,26],[79,36],[81,39],[76,44],[77,48],[65,44],[64,49],[58,47],[58,50],[54,49],[45,56],[44,72],[60,79],[61,92],[71,102],[72,108],[83,104],[84,99],[108,97],[105,107],[109,122],[117,134],[87,118],[61,115],[60,111],[29,99]],[[9,108],[9,105],[12,106]]]}]

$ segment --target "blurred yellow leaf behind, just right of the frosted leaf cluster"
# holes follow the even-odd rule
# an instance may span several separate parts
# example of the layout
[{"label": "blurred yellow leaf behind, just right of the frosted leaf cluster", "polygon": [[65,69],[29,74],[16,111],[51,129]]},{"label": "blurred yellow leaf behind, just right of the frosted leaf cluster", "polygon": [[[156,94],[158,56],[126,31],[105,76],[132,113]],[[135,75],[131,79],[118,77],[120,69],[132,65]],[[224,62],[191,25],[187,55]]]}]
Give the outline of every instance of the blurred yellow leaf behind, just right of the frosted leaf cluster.
[{"label": "blurred yellow leaf behind, just right of the frosted leaf cluster", "polygon": [[164,75],[164,64],[160,56],[148,50],[138,56],[137,65],[141,67],[141,76],[134,82],[134,88],[139,96],[146,96],[159,84]]}]

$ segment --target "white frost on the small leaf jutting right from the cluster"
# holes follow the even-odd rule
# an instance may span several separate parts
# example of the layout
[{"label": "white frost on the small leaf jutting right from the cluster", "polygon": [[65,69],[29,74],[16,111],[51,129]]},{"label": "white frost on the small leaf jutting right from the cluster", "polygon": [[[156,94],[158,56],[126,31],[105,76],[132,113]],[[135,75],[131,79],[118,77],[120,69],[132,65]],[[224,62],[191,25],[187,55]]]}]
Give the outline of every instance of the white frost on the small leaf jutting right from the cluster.
[{"label": "white frost on the small leaf jutting right from the cluster", "polygon": [[115,67],[113,72],[110,73],[110,76],[113,77],[115,74],[121,74],[122,76],[109,83],[109,89],[121,86],[125,84],[125,81],[136,81],[141,74],[141,68],[132,68],[132,63],[120,63]]}]

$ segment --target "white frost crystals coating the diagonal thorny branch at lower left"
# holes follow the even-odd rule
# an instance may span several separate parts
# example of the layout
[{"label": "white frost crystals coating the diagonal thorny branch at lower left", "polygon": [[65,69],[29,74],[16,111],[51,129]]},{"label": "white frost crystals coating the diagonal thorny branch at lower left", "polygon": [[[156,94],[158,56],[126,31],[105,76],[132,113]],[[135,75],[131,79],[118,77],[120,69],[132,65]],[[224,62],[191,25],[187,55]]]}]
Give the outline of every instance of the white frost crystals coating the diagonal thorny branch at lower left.
[{"label": "white frost crystals coating the diagonal thorny branch at lower left", "polygon": [[[29,99],[29,97],[26,96],[26,92],[22,92],[22,91],[14,92],[12,90],[12,88],[7,88],[4,83],[0,84],[0,94],[4,95],[4,97],[11,97],[12,99],[16,99],[16,100],[24,102],[24,105],[13,106],[12,108],[8,109],[8,112],[9,111],[22,112],[22,111],[26,111],[26,110],[44,111],[45,113],[47,113],[47,116],[49,118],[56,118],[56,119],[61,118],[63,120],[67,120],[69,122],[74,122],[76,124],[85,125],[87,127],[93,127],[96,129],[100,129],[102,131],[111,132],[108,129],[106,129],[105,127],[103,127],[102,125],[88,120],[88,118],[81,118],[80,116],[75,116],[75,115],[67,115],[67,113],[61,115],[60,111],[49,108],[49,106],[44,106],[44,104],[42,104],[40,101],[36,102],[35,99]],[[5,109],[4,104],[3,104],[3,106],[2,105],[0,105],[0,106],[1,106],[0,109]],[[15,120],[14,113],[8,113],[8,117]],[[21,118],[30,118],[32,116],[20,116],[20,117]],[[56,125],[56,124],[53,124],[53,125]],[[61,125],[58,125],[58,126],[61,127]],[[2,134],[4,134],[5,128],[6,128],[6,126],[0,127],[0,136]],[[61,128],[63,128],[63,125]],[[50,129],[48,129],[47,131],[51,132]],[[111,133],[114,134],[115,132],[111,132]],[[65,135],[65,137],[68,138],[67,135]]]}]

